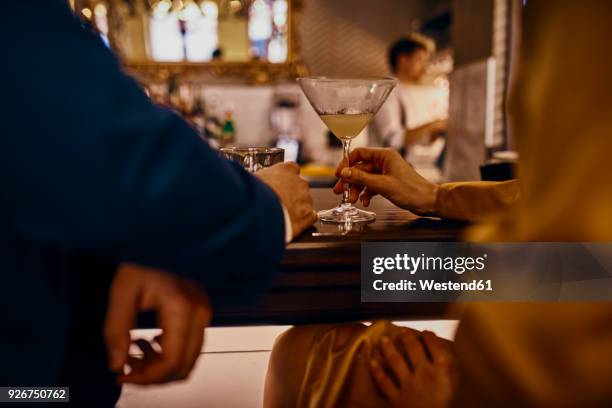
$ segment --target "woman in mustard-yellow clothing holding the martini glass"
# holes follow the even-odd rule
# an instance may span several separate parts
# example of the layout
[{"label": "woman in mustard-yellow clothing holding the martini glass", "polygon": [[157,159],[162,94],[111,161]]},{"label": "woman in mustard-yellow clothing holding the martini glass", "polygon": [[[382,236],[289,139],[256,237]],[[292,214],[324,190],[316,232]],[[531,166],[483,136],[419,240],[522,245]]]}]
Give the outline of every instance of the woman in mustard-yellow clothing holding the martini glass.
[{"label": "woman in mustard-yellow clothing holding the martini glass", "polygon": [[[611,2],[530,0],[510,106],[518,181],[437,186],[357,149],[340,173],[352,199],[476,220],[469,241],[612,241],[611,39]],[[610,303],[471,304],[454,343],[389,322],[295,327],[265,406],[612,406],[610,367]]]}]

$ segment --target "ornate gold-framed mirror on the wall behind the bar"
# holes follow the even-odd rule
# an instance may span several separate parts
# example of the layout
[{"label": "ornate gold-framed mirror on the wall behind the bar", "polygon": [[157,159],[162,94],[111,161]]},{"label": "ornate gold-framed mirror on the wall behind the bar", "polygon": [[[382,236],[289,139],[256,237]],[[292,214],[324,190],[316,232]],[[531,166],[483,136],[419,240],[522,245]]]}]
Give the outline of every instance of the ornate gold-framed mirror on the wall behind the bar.
[{"label": "ornate gold-framed mirror on the wall behind the bar", "polygon": [[270,83],[307,74],[302,0],[70,0],[125,68],[143,80],[182,75]]}]

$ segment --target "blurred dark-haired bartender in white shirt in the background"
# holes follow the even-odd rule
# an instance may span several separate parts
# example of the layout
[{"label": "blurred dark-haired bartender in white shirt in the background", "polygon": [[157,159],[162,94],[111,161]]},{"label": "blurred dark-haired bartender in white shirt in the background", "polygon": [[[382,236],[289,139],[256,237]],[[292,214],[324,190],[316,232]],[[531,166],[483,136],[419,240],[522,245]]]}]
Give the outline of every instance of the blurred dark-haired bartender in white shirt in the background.
[{"label": "blurred dark-haired bartender in white shirt in the background", "polygon": [[397,149],[423,177],[439,181],[448,92],[424,83],[434,49],[433,41],[416,33],[391,46],[389,65],[398,86],[370,125],[369,144]]}]

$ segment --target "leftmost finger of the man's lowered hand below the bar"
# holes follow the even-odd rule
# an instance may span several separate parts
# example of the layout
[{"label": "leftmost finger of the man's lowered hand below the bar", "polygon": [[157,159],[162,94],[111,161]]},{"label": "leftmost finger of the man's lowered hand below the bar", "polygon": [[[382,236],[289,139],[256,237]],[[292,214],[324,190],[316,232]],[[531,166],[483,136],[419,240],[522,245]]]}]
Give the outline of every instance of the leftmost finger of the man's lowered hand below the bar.
[{"label": "leftmost finger of the man's lowered hand below the bar", "polygon": [[130,265],[121,265],[113,281],[109,294],[108,309],[104,322],[104,339],[108,351],[109,368],[118,372],[128,360],[131,344],[130,329],[138,313],[138,288],[124,282],[129,274],[119,273],[130,268]]}]

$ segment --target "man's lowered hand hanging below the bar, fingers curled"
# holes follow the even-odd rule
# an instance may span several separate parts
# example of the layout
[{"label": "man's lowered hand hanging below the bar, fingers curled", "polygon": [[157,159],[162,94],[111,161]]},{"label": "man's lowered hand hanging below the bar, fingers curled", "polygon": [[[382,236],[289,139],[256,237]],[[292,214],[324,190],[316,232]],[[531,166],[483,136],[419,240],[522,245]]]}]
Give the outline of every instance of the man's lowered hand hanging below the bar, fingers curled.
[{"label": "man's lowered hand hanging below the bar, fingers curled", "polygon": [[[144,353],[137,359],[128,355],[130,329],[140,311],[154,311],[162,334],[154,344],[137,340]],[[196,283],[172,274],[139,265],[124,264],[113,280],[104,337],[109,367],[118,372],[118,382],[159,384],[187,378],[204,341],[204,329],[211,319],[208,296]],[[123,374],[123,366],[131,367]]]}]

